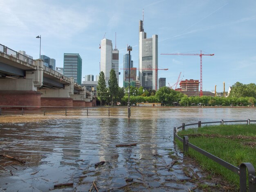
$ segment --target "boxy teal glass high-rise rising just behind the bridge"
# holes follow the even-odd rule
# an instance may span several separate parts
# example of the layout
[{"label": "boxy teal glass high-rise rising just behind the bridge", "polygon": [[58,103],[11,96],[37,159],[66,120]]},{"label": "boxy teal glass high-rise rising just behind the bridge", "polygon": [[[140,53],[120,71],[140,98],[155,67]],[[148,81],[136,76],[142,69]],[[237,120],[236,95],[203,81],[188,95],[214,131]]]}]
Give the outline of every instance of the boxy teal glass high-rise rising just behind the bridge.
[{"label": "boxy teal glass high-rise rising just behind the bridge", "polygon": [[64,53],[63,74],[67,77],[73,77],[74,81],[81,85],[82,83],[82,58],[79,54]]}]

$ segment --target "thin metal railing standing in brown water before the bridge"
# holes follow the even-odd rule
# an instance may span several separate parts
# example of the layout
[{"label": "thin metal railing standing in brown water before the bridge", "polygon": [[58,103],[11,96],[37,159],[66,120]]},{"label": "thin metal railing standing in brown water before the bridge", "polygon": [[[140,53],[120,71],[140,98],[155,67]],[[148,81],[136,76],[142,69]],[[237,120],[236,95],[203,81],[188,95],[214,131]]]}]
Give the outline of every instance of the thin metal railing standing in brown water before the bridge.
[{"label": "thin metal railing standing in brown water before the bridge", "polygon": [[127,107],[1,106],[0,115],[128,116],[128,112],[125,109]]}]

